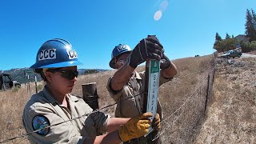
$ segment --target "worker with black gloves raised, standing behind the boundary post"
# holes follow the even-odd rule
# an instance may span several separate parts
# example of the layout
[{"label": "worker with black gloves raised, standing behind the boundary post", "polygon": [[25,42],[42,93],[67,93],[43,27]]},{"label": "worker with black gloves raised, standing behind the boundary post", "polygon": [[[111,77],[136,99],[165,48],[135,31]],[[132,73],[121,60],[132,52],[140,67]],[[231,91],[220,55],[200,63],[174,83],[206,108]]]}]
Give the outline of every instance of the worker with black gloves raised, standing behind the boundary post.
[{"label": "worker with black gloves raised, standing behind the boundary post", "polygon": [[[137,72],[135,68],[142,62],[156,59],[161,62],[159,86],[169,82],[177,74],[177,68],[164,54],[163,46],[155,36],[142,39],[134,50],[126,44],[115,46],[110,60],[110,67],[117,69],[115,74],[109,78],[107,90],[111,98],[117,102],[115,117],[130,118],[142,114],[143,91],[145,84],[145,71]],[[156,117],[162,119],[162,107],[158,100]],[[134,138],[124,143],[161,143],[156,135],[158,130],[150,133],[146,138]],[[155,138],[154,141],[152,141]]]}]

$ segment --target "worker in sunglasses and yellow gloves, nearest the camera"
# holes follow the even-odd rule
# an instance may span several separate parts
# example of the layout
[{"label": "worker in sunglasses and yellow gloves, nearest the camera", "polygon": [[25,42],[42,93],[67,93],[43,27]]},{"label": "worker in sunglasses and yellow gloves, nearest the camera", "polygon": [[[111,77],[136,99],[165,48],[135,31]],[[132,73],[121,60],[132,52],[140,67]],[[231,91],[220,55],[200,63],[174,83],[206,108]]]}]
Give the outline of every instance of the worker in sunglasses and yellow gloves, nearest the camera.
[{"label": "worker in sunglasses and yellow gloves, nearest the camera", "polygon": [[41,74],[46,86],[32,95],[22,114],[31,143],[120,143],[148,133],[150,125],[160,126],[159,118],[150,121],[151,113],[110,118],[71,95],[79,65],[77,52],[64,39],[50,39],[38,50],[30,68]]}]

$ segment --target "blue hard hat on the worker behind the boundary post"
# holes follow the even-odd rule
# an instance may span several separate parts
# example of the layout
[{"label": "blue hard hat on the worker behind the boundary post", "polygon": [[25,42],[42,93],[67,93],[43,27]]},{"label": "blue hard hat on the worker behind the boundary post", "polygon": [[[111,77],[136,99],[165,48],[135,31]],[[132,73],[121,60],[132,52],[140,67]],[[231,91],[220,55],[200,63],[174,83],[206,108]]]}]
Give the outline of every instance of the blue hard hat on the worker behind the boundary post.
[{"label": "blue hard hat on the worker behind the boundary post", "polygon": [[110,67],[115,69],[114,58],[118,57],[120,54],[124,54],[126,52],[131,52],[130,46],[119,44],[118,46],[114,46],[111,54]]}]

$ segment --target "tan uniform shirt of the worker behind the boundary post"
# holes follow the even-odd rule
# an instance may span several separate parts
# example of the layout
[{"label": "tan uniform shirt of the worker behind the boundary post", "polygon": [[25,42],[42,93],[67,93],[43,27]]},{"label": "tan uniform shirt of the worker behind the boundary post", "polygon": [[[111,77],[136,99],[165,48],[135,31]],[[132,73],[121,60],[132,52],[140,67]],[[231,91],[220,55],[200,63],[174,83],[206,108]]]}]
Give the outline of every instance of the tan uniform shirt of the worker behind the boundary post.
[{"label": "tan uniform shirt of the worker behind the boundary post", "polygon": [[[143,107],[143,94],[144,91],[144,81],[145,74],[144,72],[135,72],[135,77],[130,78],[125,86],[123,86],[122,90],[114,91],[111,89],[111,78],[109,78],[107,84],[107,90],[110,93],[110,96],[114,98],[117,103],[117,107],[115,110],[115,117],[120,118],[131,118],[138,114],[142,114]],[[163,83],[170,81],[171,78],[163,78],[162,73],[159,78],[159,86]],[[125,100],[124,100],[125,99]],[[158,100],[157,112],[160,114],[160,118],[162,118],[162,107]]]}]

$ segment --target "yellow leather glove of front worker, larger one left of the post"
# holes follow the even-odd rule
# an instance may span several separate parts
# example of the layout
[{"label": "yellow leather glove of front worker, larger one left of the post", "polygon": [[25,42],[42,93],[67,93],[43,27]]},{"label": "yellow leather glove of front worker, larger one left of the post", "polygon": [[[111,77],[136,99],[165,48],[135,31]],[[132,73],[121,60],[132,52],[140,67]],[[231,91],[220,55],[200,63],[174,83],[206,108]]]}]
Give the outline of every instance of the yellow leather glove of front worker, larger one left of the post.
[{"label": "yellow leather glove of front worker, larger one left of the post", "polygon": [[133,138],[139,138],[149,132],[150,117],[152,113],[140,114],[137,117],[130,118],[130,120],[119,128],[119,136],[122,142],[129,141]]}]

